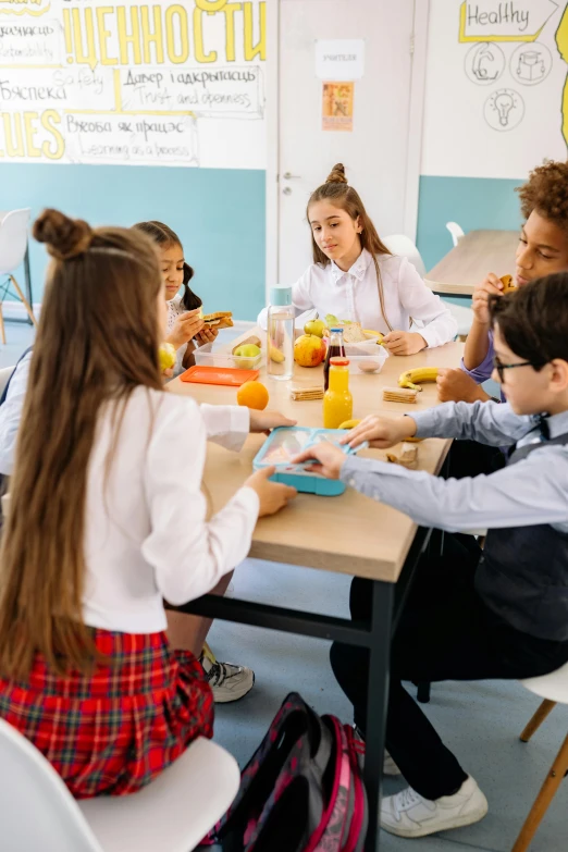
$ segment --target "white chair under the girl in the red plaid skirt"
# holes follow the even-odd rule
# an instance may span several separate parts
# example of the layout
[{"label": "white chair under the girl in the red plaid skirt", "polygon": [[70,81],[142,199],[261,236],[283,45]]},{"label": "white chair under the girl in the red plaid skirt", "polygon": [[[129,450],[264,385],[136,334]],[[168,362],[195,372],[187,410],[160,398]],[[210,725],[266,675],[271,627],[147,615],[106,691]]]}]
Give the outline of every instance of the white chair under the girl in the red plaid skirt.
[{"label": "white chair under the girl in the red plaid skirt", "polygon": [[238,785],[234,757],[198,739],[138,793],[76,802],[42,754],[0,719],[7,852],[190,852],[231,805]]}]

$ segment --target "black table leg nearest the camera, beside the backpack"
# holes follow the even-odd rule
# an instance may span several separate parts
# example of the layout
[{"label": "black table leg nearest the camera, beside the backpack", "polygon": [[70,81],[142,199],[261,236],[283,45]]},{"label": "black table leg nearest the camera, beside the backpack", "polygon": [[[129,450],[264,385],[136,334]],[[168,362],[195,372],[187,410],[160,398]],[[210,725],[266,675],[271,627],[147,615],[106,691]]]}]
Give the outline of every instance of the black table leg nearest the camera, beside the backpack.
[{"label": "black table leg nearest the camera, beside the backpack", "polygon": [[394,585],[375,580],[372,594],[365,749],[365,786],[369,801],[369,829],[365,852],[375,852],[379,849],[379,803],[381,801],[388,703]]}]

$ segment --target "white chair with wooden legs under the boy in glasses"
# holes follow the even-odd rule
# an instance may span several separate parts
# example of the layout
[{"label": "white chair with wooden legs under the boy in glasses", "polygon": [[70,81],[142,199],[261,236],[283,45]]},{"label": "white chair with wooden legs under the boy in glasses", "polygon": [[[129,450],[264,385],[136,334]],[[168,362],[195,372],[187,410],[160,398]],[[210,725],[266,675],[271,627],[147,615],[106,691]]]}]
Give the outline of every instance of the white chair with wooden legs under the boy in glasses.
[{"label": "white chair with wooden legs under the boy in glasses", "polygon": [[[540,728],[557,703],[568,704],[568,663],[556,671],[553,671],[552,675],[544,675],[541,678],[529,678],[528,680],[521,680],[521,683],[528,690],[534,692],[535,695],[540,695],[541,699],[544,699],[520,736],[522,742],[529,742],[532,734]],[[513,852],[526,852],[526,850],[528,850],[529,843],[536,834],[536,829],[567,773],[568,737],[566,737],[560,751],[556,755],[551,767],[551,771],[541,787],[541,791],[513,847]]]}]

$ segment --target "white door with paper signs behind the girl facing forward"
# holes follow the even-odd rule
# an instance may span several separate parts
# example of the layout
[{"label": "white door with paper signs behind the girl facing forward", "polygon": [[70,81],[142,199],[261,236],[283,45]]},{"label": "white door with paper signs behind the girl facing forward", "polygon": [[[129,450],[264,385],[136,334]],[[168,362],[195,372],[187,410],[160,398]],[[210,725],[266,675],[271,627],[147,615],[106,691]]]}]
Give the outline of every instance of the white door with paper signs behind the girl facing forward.
[{"label": "white door with paper signs behind the girl facing forward", "polygon": [[[415,0],[280,0],[277,175],[268,171],[269,181],[275,178],[268,203],[276,207],[268,215],[269,279],[291,284],[312,262],[306,203],[336,162],[345,164],[379,234],[404,233],[413,13]],[[365,39],[353,132],[322,129],[318,39]],[[272,263],[270,252],[276,255]]]}]

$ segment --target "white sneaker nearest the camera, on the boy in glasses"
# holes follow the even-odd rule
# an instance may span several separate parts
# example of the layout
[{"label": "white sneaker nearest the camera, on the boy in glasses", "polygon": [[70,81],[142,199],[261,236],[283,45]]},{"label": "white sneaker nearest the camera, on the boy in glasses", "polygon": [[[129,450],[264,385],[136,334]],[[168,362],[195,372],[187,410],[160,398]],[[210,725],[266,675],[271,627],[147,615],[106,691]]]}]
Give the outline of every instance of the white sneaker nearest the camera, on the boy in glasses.
[{"label": "white sneaker nearest the camera, on the boy in glasses", "polygon": [[483,819],[487,800],[471,776],[454,795],[431,802],[407,787],[397,795],[383,799],[381,828],[398,837],[424,837],[448,828],[469,826]]}]

